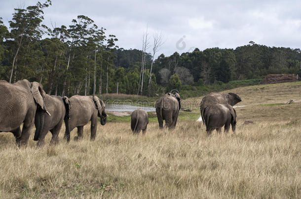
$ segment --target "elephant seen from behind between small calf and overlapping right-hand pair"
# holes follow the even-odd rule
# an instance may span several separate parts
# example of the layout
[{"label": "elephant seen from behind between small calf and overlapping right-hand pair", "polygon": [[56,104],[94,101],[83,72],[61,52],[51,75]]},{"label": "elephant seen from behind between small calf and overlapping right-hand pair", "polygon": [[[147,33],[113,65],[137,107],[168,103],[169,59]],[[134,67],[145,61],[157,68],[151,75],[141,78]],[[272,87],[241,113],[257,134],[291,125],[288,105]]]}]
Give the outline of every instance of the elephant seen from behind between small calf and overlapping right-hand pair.
[{"label": "elephant seen from behind between small calf and overlapping right-hand pair", "polygon": [[159,122],[159,128],[163,128],[163,120],[165,120],[164,128],[172,130],[176,127],[178,114],[181,109],[181,97],[179,93],[167,93],[157,100],[156,114]]}]

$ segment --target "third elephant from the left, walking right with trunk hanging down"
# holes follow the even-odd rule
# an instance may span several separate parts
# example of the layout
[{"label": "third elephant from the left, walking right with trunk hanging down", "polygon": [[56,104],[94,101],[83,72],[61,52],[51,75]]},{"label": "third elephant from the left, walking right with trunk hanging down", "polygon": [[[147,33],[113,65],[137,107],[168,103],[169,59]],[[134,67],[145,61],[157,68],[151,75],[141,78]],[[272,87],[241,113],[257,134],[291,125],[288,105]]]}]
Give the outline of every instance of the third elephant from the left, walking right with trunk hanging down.
[{"label": "third elephant from the left, walking right with trunk hanging down", "polygon": [[105,111],[105,103],[97,96],[80,96],[74,95],[69,98],[72,106],[69,117],[65,117],[66,131],[64,138],[67,142],[70,141],[70,132],[77,127],[77,136],[74,140],[82,139],[83,126],[91,121],[91,138],[93,141],[96,138],[97,116],[100,117],[101,125],[107,123],[107,114]]}]

